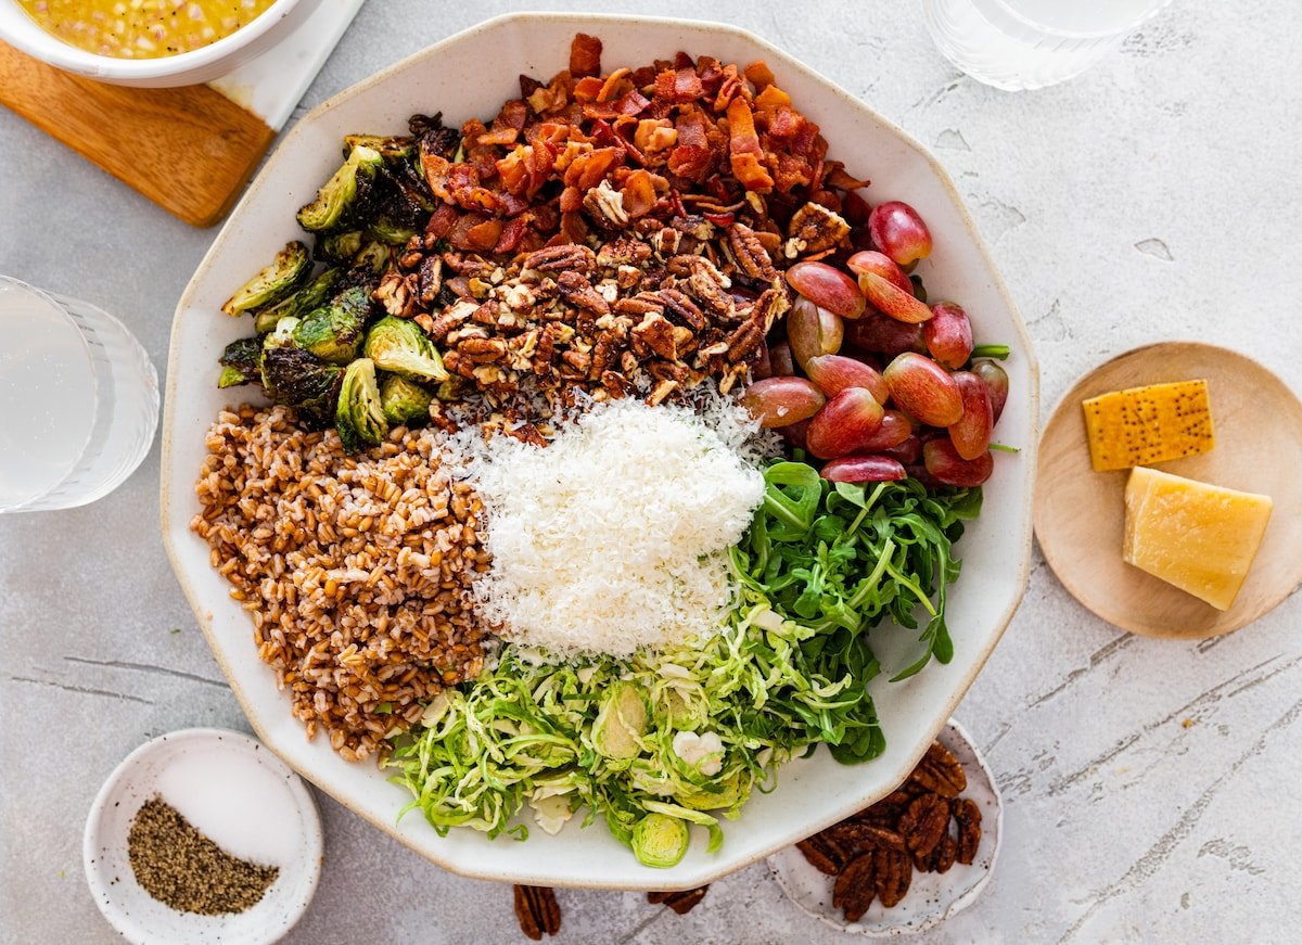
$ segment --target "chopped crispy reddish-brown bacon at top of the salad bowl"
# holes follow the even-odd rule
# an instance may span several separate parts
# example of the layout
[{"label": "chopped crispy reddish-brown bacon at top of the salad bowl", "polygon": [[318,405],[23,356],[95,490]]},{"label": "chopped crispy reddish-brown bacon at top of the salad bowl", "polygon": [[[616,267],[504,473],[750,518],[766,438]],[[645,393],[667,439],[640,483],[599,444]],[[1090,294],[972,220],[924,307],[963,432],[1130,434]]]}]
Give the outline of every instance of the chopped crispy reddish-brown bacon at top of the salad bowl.
[{"label": "chopped crispy reddish-brown bacon at top of the salad bowl", "polygon": [[[600,40],[579,34],[568,70],[546,83],[521,75],[519,98],[487,126],[467,121],[460,147],[422,143],[419,171],[440,203],[427,249],[447,240],[462,253],[509,256],[581,241],[590,224],[608,226],[594,219],[603,200],[587,199],[599,186],[644,233],[678,219],[687,238],[700,238],[681,220],[743,223],[772,237],[776,253],[786,220],[809,202],[842,208],[862,229],[855,190],[866,181],[825,160],[818,125],[764,62],[742,69],[680,52],[603,74],[600,57]],[[771,194],[758,217],[746,191]]]}]

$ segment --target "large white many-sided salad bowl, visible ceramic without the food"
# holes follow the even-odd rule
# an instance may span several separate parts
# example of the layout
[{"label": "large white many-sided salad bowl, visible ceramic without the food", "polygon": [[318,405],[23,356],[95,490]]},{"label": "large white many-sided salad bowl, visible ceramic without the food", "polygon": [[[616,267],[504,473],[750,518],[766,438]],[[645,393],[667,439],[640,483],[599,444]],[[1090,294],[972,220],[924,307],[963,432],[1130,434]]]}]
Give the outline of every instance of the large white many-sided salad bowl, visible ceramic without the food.
[{"label": "large white many-sided salad bowl, visible ceramic without the food", "polygon": [[[189,531],[198,512],[194,479],[203,462],[204,432],[216,413],[247,396],[216,389],[221,349],[247,335],[247,319],[220,314],[221,302],[301,236],[294,211],[339,164],[344,134],[405,133],[414,112],[443,111],[457,125],[491,118],[501,102],[519,94],[521,73],[547,78],[568,64],[574,33],[599,35],[604,68],[672,59],[678,49],[723,61],[764,59],[797,107],[816,121],[854,174],[870,176],[875,202],[904,199],[927,220],[935,251],[921,267],[934,298],[960,299],[976,336],[1005,342],[1012,396],[999,440],[1021,449],[1000,453],[986,488],[986,513],[960,544],[963,574],[949,597],[956,642],[948,665],[931,665],[904,683],[883,674],[872,683],[888,747],[879,759],[842,767],[825,750],[786,765],[780,786],[755,794],[741,819],[725,823],[727,840],[715,854],[703,837],[672,870],[637,863],[603,825],[572,821],[559,836],[534,829],[526,842],[487,840],[469,829],[439,837],[419,816],[396,821],[408,797],[371,764],[349,764],[324,738],[309,742],[276,690],[271,669],[258,660],[249,617],[228,596],[228,584],[208,565],[208,547]],[[491,62],[493,68],[484,69]],[[1026,587],[1031,548],[1031,487],[1035,475],[1038,372],[1030,338],[990,255],[945,172],[904,131],[781,49],[730,26],[652,18],[572,14],[501,17],[452,36],[361,82],[309,113],[286,135],[236,207],[181,298],[172,328],[167,411],[163,427],[163,538],[173,568],[230,686],[259,737],[299,773],[376,827],[448,870],[513,883],[607,889],[686,889],[708,883],[832,824],[888,793],[922,756],[949,719],[1008,625]],[[888,669],[907,665],[917,634],[879,631],[874,650]]]}]

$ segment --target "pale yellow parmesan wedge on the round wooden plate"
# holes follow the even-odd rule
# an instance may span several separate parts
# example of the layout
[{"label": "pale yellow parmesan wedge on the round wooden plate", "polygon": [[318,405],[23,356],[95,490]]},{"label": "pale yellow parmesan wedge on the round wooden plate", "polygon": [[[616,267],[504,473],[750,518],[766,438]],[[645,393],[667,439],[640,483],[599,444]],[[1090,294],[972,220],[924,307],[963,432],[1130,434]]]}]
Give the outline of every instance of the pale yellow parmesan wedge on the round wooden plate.
[{"label": "pale yellow parmesan wedge on the round wooden plate", "polygon": [[1137,466],[1126,483],[1122,557],[1226,610],[1271,519],[1269,496]]}]

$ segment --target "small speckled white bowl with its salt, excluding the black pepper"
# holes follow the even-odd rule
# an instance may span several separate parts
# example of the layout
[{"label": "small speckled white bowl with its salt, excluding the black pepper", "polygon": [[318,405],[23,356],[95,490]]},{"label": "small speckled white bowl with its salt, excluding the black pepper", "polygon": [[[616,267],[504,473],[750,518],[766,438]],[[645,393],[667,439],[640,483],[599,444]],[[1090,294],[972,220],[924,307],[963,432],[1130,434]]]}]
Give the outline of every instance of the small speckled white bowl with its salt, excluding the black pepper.
[{"label": "small speckled white bowl with its salt, excluding the black pepper", "polygon": [[[228,915],[178,912],[135,881],[126,838],[154,797],[227,853],[280,868],[255,906]],[[224,729],[182,729],[146,742],[108,776],[86,819],[82,859],[95,905],[133,945],[262,945],[307,910],[322,849],[316,802],[262,742]]]}]

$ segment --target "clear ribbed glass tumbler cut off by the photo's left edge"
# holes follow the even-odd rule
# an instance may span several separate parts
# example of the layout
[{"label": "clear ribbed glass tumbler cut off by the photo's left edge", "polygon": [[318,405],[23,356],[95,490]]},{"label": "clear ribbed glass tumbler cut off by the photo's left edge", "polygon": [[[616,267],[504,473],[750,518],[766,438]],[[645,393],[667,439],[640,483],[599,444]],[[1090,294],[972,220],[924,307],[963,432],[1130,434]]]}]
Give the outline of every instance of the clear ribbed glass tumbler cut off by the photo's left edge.
[{"label": "clear ribbed glass tumbler cut off by the photo's left edge", "polygon": [[154,364],[121,322],[0,276],[0,513],[112,492],[148,453],[158,417]]}]

